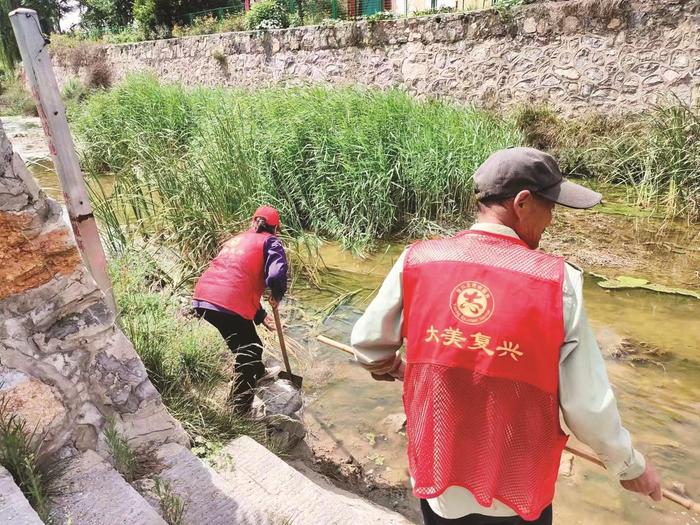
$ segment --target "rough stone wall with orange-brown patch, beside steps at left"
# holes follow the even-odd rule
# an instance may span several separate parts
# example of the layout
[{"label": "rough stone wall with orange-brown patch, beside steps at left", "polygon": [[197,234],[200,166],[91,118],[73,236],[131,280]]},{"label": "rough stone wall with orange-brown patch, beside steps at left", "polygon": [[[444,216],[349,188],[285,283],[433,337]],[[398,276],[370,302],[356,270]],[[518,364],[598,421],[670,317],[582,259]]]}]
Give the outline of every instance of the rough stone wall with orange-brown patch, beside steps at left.
[{"label": "rough stone wall with orange-brown patch, beside steps at left", "polygon": [[36,428],[44,454],[106,456],[109,417],[135,447],[188,443],[1,122],[0,268],[0,409]]}]

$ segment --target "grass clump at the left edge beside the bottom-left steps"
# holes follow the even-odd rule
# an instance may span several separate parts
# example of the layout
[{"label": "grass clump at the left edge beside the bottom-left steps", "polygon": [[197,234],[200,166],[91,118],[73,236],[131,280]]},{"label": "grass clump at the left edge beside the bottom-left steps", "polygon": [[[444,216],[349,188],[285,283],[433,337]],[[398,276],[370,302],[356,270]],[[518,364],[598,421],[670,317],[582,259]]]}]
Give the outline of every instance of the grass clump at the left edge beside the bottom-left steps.
[{"label": "grass clump at the left edge beside the bottom-left steps", "polygon": [[0,397],[0,465],[5,467],[42,521],[49,523],[50,498],[45,474],[39,468],[36,434]]}]

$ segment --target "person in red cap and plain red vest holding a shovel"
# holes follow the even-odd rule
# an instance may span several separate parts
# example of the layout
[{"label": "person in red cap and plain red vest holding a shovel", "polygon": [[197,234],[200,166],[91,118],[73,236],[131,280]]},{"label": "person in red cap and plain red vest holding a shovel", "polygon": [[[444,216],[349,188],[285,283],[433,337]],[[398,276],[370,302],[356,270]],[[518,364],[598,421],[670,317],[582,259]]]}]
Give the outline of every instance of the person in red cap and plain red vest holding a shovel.
[{"label": "person in red cap and plain red vest holding a shovel", "polygon": [[193,308],[219,330],[236,355],[233,403],[240,414],[250,409],[253,388],[265,375],[255,325],[263,323],[274,330],[260,299],[270,288],[269,302],[276,308],[287,291],[287,259],[277,237],[279,229],[277,210],[258,208],[251,228],[224,243],[194,288]]}]

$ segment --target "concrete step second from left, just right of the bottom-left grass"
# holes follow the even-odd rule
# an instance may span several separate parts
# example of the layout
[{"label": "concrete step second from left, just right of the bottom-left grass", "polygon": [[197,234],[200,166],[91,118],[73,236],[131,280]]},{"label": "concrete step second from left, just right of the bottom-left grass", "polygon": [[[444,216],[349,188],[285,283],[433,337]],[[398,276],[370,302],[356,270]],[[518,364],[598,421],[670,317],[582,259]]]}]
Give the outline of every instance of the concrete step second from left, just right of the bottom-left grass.
[{"label": "concrete step second from left, just right of the bottom-left grass", "polygon": [[51,483],[56,525],[166,525],[153,507],[97,453],[65,460]]}]

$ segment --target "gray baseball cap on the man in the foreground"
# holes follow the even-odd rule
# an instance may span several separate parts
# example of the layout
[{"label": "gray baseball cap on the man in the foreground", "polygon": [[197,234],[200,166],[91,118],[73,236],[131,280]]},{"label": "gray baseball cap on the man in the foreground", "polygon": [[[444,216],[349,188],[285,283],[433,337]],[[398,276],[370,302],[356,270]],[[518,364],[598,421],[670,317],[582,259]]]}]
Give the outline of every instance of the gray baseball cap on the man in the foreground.
[{"label": "gray baseball cap on the man in the foreground", "polygon": [[557,161],[534,148],[508,148],[493,153],[474,173],[476,198],[495,201],[530,190],[569,208],[592,208],[603,196],[564,179]]}]

